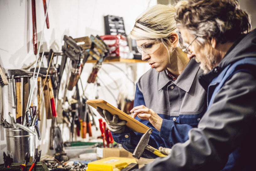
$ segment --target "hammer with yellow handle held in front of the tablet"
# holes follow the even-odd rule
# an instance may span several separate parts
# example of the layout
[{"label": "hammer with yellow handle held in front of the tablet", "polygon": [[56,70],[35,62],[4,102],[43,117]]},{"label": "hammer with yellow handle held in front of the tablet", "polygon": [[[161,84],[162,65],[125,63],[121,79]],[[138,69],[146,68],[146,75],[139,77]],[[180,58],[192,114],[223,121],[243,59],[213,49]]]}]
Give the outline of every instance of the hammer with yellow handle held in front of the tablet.
[{"label": "hammer with yellow handle held in front of the tablet", "polygon": [[149,138],[150,138],[150,134],[151,134],[151,133],[152,133],[152,128],[149,128],[149,129],[147,130],[147,132],[146,132],[144,135],[142,135],[142,137],[141,137],[139,143],[137,144],[137,146],[136,146],[136,148],[135,148],[135,150],[134,150],[134,152],[133,152],[133,154],[132,154],[133,157],[135,157],[135,158],[137,158],[137,159],[140,159],[140,157],[141,157],[141,155],[142,155],[142,153],[143,153],[143,151],[144,151],[145,149],[147,149],[148,151],[150,151],[150,152],[156,154],[156,155],[159,156],[159,157],[165,157],[165,156],[167,156],[167,155],[161,153],[161,152],[160,152],[159,150],[157,150],[156,148],[153,148],[152,146],[150,146],[150,145],[147,144],[148,141],[149,141]]}]

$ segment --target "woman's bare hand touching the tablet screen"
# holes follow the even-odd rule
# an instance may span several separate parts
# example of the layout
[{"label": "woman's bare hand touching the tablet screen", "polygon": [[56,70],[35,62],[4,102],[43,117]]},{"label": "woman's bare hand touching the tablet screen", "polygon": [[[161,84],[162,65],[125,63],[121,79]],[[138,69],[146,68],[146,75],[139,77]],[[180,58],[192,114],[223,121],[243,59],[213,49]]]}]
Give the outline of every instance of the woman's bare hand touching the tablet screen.
[{"label": "woman's bare hand touching the tablet screen", "polygon": [[163,119],[157,115],[152,109],[147,108],[144,105],[136,106],[131,111],[133,113],[132,117],[135,118],[138,116],[141,119],[148,120],[153,127],[155,127],[158,131],[160,131]]}]

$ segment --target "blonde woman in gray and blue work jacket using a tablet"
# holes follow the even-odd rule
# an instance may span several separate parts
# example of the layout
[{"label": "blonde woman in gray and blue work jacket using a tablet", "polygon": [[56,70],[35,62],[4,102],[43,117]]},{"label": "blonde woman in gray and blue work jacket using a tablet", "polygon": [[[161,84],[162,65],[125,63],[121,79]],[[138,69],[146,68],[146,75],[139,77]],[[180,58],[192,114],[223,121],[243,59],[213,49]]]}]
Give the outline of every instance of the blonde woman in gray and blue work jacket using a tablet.
[{"label": "blonde woman in gray and blue work jacket using a tablet", "polygon": [[[186,1],[180,2],[186,3]],[[155,5],[136,19],[130,35],[136,39],[142,60],[152,69],[136,84],[133,117],[151,127],[149,145],[171,148],[185,142],[188,131],[197,127],[206,110],[205,90],[198,82],[203,73],[199,64],[187,58],[183,41],[174,20],[175,7]],[[98,112],[108,122],[114,140],[133,152],[141,133],[133,132],[117,116]],[[144,157],[154,158],[145,150]]]}]

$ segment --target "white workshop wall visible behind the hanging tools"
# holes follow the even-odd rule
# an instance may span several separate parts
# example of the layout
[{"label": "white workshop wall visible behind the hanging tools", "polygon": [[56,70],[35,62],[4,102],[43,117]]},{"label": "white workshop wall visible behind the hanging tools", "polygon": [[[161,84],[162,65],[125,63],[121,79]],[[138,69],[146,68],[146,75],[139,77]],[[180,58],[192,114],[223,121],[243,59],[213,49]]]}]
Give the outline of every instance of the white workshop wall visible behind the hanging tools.
[{"label": "white workshop wall visible behind the hanging tools", "polygon": [[[48,0],[46,0],[48,4]],[[42,38],[42,47],[40,52],[53,49],[54,52],[60,52],[63,45],[63,36],[68,35],[73,38],[89,36],[90,34],[104,34],[105,15],[116,15],[124,18],[126,34],[131,31],[136,17],[142,13],[148,6],[156,4],[156,0],[51,0],[48,16],[50,28],[44,29]],[[36,26],[38,47],[42,34],[44,23],[44,9],[41,0],[36,0]],[[0,0],[0,65],[7,69],[20,69],[28,66],[35,61],[36,56],[32,44],[32,12],[30,0]],[[44,67],[46,67],[46,61]],[[115,63],[125,70],[129,77],[137,80],[149,66],[144,64],[121,64]],[[116,68],[103,64],[102,68],[108,71],[120,85],[120,91],[128,97],[134,96],[134,85],[125,77],[125,75]],[[135,69],[135,73],[131,69]],[[86,64],[81,75],[84,85],[91,72],[92,64]],[[109,79],[102,70],[99,71],[99,77],[104,80],[104,84],[115,87],[114,82]],[[100,82],[100,81],[99,81]],[[102,85],[102,84],[101,84]],[[114,90],[115,97],[118,90]],[[89,98],[95,98],[96,89],[94,85],[88,85],[86,94]],[[72,92],[69,92],[70,96]],[[109,101],[116,106],[115,100],[110,96],[106,89],[99,89],[99,98]],[[9,121],[8,112],[15,113],[12,108],[11,86],[4,86],[0,95],[0,112]],[[43,106],[44,104],[42,104]],[[44,113],[44,112],[43,112]],[[42,149],[42,154],[53,153],[49,151],[49,128],[51,120],[39,122],[42,139],[36,142],[36,147]],[[63,140],[69,140],[68,128],[61,125]],[[94,128],[93,128],[94,129]],[[95,136],[99,132],[95,133]],[[0,163],[3,163],[3,151],[6,152],[5,129],[0,127]]]}]

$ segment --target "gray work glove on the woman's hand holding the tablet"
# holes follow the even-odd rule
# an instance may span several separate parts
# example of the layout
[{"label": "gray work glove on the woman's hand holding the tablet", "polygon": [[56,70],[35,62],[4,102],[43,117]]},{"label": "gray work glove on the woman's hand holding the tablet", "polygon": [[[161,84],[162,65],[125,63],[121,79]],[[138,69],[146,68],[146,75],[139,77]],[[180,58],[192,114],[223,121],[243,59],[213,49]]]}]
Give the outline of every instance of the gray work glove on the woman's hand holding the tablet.
[{"label": "gray work glove on the woman's hand holding the tablet", "polygon": [[117,115],[111,115],[109,111],[102,110],[100,107],[96,107],[96,110],[99,112],[105,121],[109,125],[109,130],[118,134],[125,132],[125,124],[127,121],[120,120]]}]

